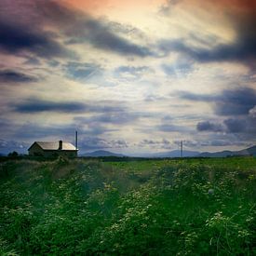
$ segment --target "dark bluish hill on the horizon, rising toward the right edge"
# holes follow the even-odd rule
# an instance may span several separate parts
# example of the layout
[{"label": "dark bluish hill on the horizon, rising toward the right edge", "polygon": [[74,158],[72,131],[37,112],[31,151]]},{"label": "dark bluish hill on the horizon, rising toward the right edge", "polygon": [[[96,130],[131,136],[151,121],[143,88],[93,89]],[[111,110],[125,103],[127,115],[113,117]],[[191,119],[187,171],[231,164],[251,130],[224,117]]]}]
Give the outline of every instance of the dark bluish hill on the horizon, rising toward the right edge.
[{"label": "dark bluish hill on the horizon, rising toward the right edge", "polygon": [[226,156],[236,156],[236,155],[253,155],[256,156],[256,145],[239,150],[239,151],[221,151],[221,152],[214,152],[214,153],[209,153],[209,152],[204,152],[196,156],[201,156],[201,157],[226,157]]}]

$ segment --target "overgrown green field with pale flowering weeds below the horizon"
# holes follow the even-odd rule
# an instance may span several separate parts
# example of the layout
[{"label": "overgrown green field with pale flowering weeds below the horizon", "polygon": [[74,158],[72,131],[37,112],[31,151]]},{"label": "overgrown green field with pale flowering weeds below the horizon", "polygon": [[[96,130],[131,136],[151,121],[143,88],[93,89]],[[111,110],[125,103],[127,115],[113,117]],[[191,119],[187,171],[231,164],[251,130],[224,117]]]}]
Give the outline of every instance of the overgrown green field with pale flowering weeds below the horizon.
[{"label": "overgrown green field with pale flowering weeds below the horizon", "polygon": [[256,158],[0,164],[0,255],[256,255]]}]

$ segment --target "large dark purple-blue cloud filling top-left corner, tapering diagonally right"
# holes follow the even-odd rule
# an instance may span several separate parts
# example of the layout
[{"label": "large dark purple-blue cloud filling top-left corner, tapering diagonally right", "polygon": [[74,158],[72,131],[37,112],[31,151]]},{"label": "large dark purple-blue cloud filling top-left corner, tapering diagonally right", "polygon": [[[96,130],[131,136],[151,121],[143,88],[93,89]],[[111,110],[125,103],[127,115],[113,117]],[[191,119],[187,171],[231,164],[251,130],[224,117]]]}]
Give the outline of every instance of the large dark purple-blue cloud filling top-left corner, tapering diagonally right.
[{"label": "large dark purple-blue cloud filling top-left corner, tapering diagonally right", "polygon": [[[74,56],[55,40],[61,36],[67,44],[89,43],[93,47],[127,56],[152,55],[148,47],[136,45],[121,37],[118,31],[116,33],[111,22],[94,19],[56,1],[27,0],[21,3],[18,0],[3,0],[0,16],[0,47],[10,53],[27,50],[40,57]],[[46,27],[53,28],[55,33],[47,32]]]}]

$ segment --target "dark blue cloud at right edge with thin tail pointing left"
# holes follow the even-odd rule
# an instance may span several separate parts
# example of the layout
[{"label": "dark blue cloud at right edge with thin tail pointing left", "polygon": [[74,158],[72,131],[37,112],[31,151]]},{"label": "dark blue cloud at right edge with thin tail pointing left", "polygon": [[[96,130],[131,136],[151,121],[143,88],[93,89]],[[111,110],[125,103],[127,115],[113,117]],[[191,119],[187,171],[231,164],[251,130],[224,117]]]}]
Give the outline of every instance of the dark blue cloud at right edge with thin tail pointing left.
[{"label": "dark blue cloud at right edge with thin tail pointing left", "polygon": [[184,91],[177,94],[184,100],[211,103],[217,115],[248,115],[249,110],[256,105],[256,90],[252,88],[226,89],[216,95]]}]

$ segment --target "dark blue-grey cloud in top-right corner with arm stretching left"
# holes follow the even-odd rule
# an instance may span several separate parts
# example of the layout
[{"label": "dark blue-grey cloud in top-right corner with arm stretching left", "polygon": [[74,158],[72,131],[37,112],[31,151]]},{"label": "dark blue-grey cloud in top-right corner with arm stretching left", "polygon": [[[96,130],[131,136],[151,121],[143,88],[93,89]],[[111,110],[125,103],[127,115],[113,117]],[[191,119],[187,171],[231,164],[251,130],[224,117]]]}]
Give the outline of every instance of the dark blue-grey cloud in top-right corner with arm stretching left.
[{"label": "dark blue-grey cloud in top-right corner with arm stretching left", "polygon": [[[164,53],[178,51],[190,56],[195,61],[239,61],[255,67],[256,61],[256,11],[248,10],[244,14],[229,14],[229,19],[234,24],[236,39],[230,44],[219,44],[216,47],[208,49],[209,41],[202,41],[196,34],[190,34],[190,38],[205,47],[192,47],[186,39],[162,40],[159,42],[159,48]],[[196,38],[199,38],[196,39]],[[217,43],[218,38],[212,38],[211,42]]]}]

